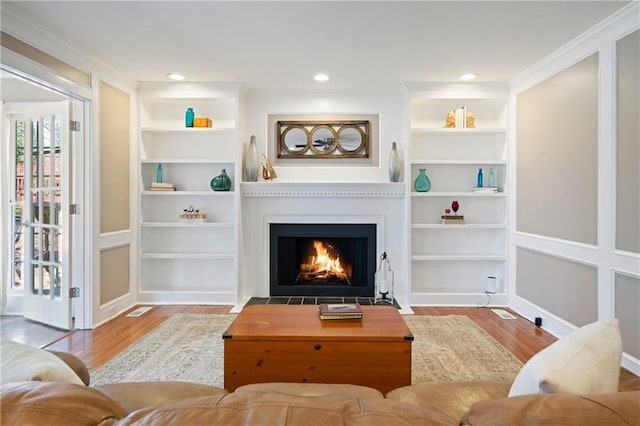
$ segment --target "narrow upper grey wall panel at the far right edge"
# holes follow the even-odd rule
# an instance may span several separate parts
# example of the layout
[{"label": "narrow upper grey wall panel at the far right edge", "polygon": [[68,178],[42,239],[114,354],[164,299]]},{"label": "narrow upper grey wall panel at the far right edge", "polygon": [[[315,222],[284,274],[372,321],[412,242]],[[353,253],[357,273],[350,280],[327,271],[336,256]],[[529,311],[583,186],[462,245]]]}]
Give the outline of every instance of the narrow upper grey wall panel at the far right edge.
[{"label": "narrow upper grey wall panel at the far right edge", "polygon": [[618,40],[616,248],[640,253],[640,31]]}]

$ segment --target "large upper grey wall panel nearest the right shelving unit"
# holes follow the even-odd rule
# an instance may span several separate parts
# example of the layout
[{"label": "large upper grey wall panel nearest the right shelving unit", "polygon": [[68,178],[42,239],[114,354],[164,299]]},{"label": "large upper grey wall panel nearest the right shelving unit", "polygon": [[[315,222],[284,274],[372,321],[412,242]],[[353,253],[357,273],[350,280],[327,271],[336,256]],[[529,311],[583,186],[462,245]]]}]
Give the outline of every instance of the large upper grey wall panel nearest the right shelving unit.
[{"label": "large upper grey wall panel nearest the right shelving unit", "polygon": [[517,97],[518,231],[597,244],[598,55]]}]

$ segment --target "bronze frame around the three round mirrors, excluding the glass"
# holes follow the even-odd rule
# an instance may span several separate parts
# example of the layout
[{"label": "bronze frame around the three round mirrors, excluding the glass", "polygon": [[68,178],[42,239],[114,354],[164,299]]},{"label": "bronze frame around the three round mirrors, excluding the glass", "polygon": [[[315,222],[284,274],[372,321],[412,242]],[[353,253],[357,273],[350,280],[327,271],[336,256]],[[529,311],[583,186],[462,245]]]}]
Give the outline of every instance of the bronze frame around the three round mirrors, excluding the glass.
[{"label": "bronze frame around the three round mirrors, excluding the glass", "polygon": [[[286,143],[286,135],[291,130],[299,129],[307,135],[307,143],[300,149],[292,149]],[[313,135],[319,130],[329,130],[333,133],[333,141],[326,150],[318,148],[313,143]],[[355,149],[345,147],[346,140],[340,139],[342,133],[348,129],[355,129],[360,134],[360,143]],[[277,121],[277,156],[278,158],[369,158],[370,148],[370,122],[369,120],[301,120],[301,121]],[[346,139],[346,138],[345,138]],[[325,142],[326,143],[326,142]],[[298,148],[296,146],[295,148]]]}]

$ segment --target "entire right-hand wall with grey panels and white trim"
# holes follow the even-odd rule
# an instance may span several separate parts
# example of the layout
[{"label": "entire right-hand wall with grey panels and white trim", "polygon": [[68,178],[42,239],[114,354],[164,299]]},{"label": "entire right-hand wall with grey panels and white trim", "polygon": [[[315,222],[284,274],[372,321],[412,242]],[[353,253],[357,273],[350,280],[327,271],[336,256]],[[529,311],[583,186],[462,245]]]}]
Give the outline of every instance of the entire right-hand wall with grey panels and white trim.
[{"label": "entire right-hand wall with grey panels and white trim", "polygon": [[541,316],[558,336],[618,318],[622,365],[640,374],[640,23],[634,7],[511,83],[509,304],[527,318]]}]

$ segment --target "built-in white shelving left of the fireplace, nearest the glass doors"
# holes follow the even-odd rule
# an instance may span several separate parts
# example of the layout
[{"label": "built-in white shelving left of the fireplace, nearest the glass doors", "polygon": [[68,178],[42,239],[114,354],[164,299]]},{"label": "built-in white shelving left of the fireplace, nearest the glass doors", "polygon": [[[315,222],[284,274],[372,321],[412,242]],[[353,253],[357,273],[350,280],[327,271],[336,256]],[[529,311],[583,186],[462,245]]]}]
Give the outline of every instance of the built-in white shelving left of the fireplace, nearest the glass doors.
[{"label": "built-in white shelving left of the fireplace, nearest the glass doors", "polygon": [[[217,84],[144,84],[140,99],[140,302],[237,302],[240,91]],[[185,112],[213,120],[185,127]],[[151,191],[158,164],[176,191]],[[210,187],[225,169],[228,192]],[[194,206],[205,222],[181,222]]]}]

